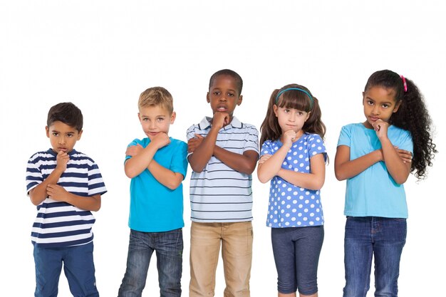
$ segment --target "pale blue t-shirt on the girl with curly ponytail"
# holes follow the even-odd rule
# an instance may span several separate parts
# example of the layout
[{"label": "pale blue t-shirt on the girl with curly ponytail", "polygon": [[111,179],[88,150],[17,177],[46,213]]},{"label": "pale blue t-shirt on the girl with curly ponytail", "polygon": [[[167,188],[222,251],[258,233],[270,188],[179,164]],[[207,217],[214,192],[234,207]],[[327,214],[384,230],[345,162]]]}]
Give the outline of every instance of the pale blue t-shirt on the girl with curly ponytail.
[{"label": "pale blue t-shirt on the girl with curly ponytail", "polygon": [[[388,138],[398,148],[413,152],[410,132],[390,125]],[[381,148],[375,130],[367,129],[362,123],[342,127],[339,145],[350,147],[350,160]],[[344,214],[351,217],[408,217],[404,186],[393,180],[384,161],[347,179]]]}]

